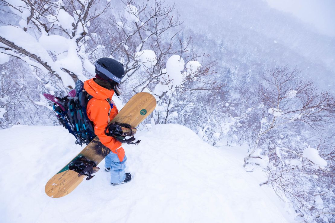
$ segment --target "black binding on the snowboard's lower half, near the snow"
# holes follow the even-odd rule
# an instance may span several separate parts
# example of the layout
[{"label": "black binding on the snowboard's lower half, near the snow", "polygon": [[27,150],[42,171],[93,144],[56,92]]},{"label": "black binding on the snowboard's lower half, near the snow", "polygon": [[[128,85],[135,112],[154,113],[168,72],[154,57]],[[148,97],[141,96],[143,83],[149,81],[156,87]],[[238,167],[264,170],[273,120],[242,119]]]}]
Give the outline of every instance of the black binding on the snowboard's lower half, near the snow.
[{"label": "black binding on the snowboard's lower half, near the snow", "polygon": [[92,174],[96,173],[99,168],[96,167],[96,162],[81,156],[69,164],[69,170],[77,172],[78,177],[85,175],[87,176],[86,180],[90,180],[94,177]]}]

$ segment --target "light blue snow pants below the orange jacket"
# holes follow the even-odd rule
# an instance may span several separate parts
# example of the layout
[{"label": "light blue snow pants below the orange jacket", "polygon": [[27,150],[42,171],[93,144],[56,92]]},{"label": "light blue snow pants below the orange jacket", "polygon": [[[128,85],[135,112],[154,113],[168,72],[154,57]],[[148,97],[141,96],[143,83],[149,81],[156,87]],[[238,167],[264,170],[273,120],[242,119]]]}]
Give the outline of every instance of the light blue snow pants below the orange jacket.
[{"label": "light blue snow pants below the orange jacket", "polygon": [[105,157],[105,167],[111,168],[110,171],[111,183],[119,184],[126,179],[126,173],[125,173],[126,161],[127,161],[126,155],[123,161],[120,162],[118,155],[113,152],[110,152]]}]

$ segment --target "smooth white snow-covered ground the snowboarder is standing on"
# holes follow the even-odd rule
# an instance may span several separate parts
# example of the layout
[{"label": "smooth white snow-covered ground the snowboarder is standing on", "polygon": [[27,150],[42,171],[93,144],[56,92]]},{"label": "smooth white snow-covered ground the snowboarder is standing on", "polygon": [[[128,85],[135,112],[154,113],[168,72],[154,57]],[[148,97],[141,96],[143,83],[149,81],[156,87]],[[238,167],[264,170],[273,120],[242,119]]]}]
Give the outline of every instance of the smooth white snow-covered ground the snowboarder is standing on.
[{"label": "smooth white snow-covered ground the snowboarder is standing on", "polygon": [[[245,150],[214,148],[186,127],[158,125],[125,145],[131,182],[111,186],[101,170],[71,194],[44,192],[81,147],[61,126],[0,131],[0,222],[294,222],[261,172],[244,171]],[[263,178],[263,179],[262,179]]]}]

